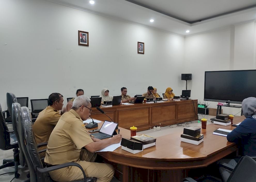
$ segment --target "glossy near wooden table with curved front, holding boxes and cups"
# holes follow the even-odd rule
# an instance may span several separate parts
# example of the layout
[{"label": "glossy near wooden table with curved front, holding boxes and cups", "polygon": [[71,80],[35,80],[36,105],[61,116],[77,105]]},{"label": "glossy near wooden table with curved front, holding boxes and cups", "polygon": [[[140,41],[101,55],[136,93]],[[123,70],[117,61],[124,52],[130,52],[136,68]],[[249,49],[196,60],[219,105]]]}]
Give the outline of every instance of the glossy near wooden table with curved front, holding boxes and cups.
[{"label": "glossy near wooden table with curved front, holding boxes and cups", "polygon": [[[234,124],[244,119],[244,116],[235,116]],[[212,134],[218,128],[233,130],[235,127],[207,124],[206,129],[201,129],[204,142],[199,145],[181,142],[181,132],[178,132],[157,137],[156,146],[136,154],[119,147],[113,152],[99,152],[99,155],[114,166],[115,177],[121,181],[181,181],[187,177],[187,169],[206,167],[237,151],[235,143]],[[130,138],[129,130],[119,129],[123,138]]]}]

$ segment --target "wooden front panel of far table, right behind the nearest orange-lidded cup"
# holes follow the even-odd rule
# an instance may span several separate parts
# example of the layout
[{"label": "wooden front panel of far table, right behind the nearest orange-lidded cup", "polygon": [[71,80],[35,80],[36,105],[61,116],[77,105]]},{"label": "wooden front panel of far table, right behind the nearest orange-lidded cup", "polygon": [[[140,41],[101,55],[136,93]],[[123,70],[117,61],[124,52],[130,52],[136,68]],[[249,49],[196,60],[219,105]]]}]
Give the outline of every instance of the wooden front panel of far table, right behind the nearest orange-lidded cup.
[{"label": "wooden front panel of far table, right behind the nearest orange-lidded cup", "polygon": [[117,110],[118,126],[130,128],[131,126],[149,126],[149,107],[129,110]]}]

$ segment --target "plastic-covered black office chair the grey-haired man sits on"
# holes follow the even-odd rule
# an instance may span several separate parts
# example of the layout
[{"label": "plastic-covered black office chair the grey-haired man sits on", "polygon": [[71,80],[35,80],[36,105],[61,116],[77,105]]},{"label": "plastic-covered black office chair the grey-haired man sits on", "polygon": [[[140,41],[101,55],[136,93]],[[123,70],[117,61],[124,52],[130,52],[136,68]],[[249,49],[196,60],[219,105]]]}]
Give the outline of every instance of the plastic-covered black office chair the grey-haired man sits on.
[{"label": "plastic-covered black office chair the grey-haired man sits on", "polygon": [[50,178],[49,171],[65,168],[68,166],[76,166],[79,167],[82,172],[84,179],[81,180],[75,180],[75,181],[85,181],[85,182],[96,182],[97,178],[94,177],[88,177],[86,178],[86,174],[78,163],[75,162],[68,162],[60,165],[55,165],[51,167],[45,167],[43,166],[43,163],[41,162],[41,159],[37,152],[37,146],[35,144],[34,136],[33,136],[33,130],[32,130],[32,122],[31,122],[31,114],[29,112],[29,109],[27,107],[21,107],[21,147],[22,150],[24,150],[25,158],[28,162],[29,172],[30,172],[30,181],[53,181]]}]

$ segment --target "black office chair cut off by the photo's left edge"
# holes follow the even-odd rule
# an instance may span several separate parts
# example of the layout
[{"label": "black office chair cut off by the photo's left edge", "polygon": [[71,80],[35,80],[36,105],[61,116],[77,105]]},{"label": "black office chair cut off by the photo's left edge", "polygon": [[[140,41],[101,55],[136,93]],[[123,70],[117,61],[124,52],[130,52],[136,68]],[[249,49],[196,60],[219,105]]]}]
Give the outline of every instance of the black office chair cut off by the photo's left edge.
[{"label": "black office chair cut off by the photo's left edge", "polygon": [[[1,150],[10,150],[13,149],[13,158],[14,159],[3,159],[3,165],[0,166],[0,169],[6,167],[14,166],[14,175],[15,178],[19,178],[20,174],[18,173],[18,165],[19,165],[19,145],[17,138],[12,131],[9,131],[6,122],[4,120],[4,116],[2,114],[2,107],[0,104],[0,149]],[[10,123],[9,123],[10,124]]]}]

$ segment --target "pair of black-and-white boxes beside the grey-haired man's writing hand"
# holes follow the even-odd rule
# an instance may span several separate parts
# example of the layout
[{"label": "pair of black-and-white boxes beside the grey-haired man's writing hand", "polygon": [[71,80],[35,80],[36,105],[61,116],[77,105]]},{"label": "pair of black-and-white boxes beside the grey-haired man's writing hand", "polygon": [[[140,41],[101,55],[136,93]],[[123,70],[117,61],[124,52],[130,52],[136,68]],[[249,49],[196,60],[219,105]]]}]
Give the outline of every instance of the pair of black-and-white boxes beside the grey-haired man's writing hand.
[{"label": "pair of black-and-white boxes beside the grey-haired man's writing hand", "polygon": [[121,146],[123,150],[135,154],[156,145],[156,140],[156,138],[141,134],[132,136],[130,139],[122,138]]}]

